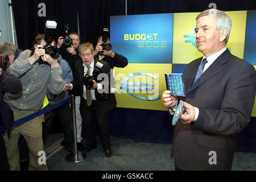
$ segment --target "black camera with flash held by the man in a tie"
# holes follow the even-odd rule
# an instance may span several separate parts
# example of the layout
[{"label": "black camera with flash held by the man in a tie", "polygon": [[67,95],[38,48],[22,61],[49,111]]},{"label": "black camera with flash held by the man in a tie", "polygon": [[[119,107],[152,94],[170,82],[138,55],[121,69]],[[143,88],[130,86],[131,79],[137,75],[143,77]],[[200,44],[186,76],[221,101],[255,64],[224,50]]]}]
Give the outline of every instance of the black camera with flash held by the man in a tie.
[{"label": "black camera with flash held by the man in a tie", "polygon": [[86,74],[82,80],[82,83],[85,85],[86,89],[91,89],[93,87],[93,81],[97,80],[97,76],[101,71],[103,64],[100,62],[97,62],[95,65],[95,68],[93,69],[92,76]]}]

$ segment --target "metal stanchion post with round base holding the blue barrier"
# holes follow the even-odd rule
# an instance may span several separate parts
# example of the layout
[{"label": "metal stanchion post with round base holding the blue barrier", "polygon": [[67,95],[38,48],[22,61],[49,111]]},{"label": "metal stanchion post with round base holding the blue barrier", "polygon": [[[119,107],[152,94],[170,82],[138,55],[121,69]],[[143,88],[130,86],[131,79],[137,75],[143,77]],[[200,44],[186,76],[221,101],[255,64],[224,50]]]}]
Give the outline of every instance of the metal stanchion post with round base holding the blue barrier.
[{"label": "metal stanchion post with round base holding the blue barrier", "polygon": [[76,135],[76,106],[75,96],[71,95],[71,109],[72,109],[72,121],[73,121],[73,135],[74,135],[74,148],[73,153],[69,153],[65,156],[65,160],[71,163],[79,163],[86,158],[85,152],[77,151],[77,135]]}]

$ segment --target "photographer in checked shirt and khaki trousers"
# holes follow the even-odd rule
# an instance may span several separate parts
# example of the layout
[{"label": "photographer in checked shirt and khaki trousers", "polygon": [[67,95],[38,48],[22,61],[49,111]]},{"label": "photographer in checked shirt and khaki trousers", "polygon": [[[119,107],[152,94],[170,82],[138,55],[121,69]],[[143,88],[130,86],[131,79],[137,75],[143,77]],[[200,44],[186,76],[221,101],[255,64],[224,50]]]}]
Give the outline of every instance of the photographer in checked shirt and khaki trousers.
[{"label": "photographer in checked shirt and khaki trousers", "polygon": [[[9,72],[19,77],[22,82],[23,96],[16,100],[7,100],[14,111],[14,120],[26,117],[42,109],[47,89],[53,94],[64,90],[64,81],[61,78],[60,65],[46,53],[44,34],[36,36],[33,43],[34,51],[25,50],[10,65]],[[8,71],[7,69],[7,71]],[[46,164],[38,163],[38,152],[43,151],[42,139],[43,115],[24,122],[11,130],[10,138],[5,133],[7,156],[11,170],[20,170],[18,140],[20,135],[26,139],[30,150],[29,170],[47,170]]]}]

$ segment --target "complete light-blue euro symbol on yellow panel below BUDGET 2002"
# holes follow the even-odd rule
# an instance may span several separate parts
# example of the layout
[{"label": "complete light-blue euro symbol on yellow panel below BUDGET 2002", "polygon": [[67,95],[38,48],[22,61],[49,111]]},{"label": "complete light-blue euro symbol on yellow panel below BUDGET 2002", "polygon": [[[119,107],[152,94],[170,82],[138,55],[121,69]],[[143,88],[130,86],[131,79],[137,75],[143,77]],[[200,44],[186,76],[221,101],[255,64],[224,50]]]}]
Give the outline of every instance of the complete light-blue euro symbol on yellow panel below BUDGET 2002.
[{"label": "complete light-blue euro symbol on yellow panel below BUDGET 2002", "polygon": [[[125,89],[127,91],[127,93],[131,94],[131,96],[139,98],[141,100],[146,100],[146,101],[158,100],[160,98],[160,96],[156,96],[156,97],[152,97],[152,98],[146,98],[146,97],[137,96],[134,93],[131,93],[130,90],[152,90],[152,87],[155,86],[155,84],[128,82],[128,80],[131,77],[138,76],[138,75],[149,76],[149,77],[154,78],[155,80],[158,79],[158,77],[156,77],[155,75],[152,75],[150,73],[141,73],[141,72],[139,72],[139,73],[131,73],[130,75],[128,75],[125,78],[125,80],[123,80],[123,82],[119,82],[118,83],[118,85],[123,85],[123,86],[120,86],[120,89]],[[129,85],[133,85],[133,86],[129,86]],[[142,88],[141,86],[146,86],[146,88]]]}]

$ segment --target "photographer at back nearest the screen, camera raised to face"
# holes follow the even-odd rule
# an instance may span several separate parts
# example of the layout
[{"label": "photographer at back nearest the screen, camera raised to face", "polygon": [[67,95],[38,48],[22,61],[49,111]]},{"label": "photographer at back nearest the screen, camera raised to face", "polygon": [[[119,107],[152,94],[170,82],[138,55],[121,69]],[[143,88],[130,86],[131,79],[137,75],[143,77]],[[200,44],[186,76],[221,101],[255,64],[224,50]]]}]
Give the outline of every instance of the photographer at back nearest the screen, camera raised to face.
[{"label": "photographer at back nearest the screen, camera raised to face", "polygon": [[[106,44],[110,44],[110,39],[107,36],[106,38]],[[113,52],[112,49],[107,51],[106,49],[102,49],[102,44],[104,41],[102,41],[102,36],[98,38],[97,46],[94,50],[94,55],[100,60],[104,60],[109,63],[110,68],[124,68],[128,64],[128,60],[125,56],[119,55],[116,52]]]}]

